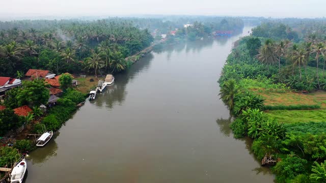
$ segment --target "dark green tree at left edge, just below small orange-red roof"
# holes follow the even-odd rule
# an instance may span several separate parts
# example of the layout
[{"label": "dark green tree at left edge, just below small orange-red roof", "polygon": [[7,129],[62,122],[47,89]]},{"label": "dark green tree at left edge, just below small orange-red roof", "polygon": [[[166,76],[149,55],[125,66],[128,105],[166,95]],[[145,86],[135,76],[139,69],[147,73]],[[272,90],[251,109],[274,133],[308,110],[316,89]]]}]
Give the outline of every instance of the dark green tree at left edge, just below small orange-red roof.
[{"label": "dark green tree at left edge, just below small orange-red roof", "polygon": [[6,108],[0,110],[0,136],[5,135],[10,130],[15,130],[22,125],[22,119],[13,110]]}]

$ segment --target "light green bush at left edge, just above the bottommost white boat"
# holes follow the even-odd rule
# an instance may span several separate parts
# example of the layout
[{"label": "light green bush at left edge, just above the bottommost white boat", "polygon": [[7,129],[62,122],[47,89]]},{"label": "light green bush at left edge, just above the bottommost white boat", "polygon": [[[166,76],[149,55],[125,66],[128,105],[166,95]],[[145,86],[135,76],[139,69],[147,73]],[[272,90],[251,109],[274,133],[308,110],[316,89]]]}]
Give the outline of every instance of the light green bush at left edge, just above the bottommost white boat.
[{"label": "light green bush at left edge, just above the bottommost white boat", "polygon": [[18,150],[12,147],[0,146],[0,167],[10,166],[20,158]]}]

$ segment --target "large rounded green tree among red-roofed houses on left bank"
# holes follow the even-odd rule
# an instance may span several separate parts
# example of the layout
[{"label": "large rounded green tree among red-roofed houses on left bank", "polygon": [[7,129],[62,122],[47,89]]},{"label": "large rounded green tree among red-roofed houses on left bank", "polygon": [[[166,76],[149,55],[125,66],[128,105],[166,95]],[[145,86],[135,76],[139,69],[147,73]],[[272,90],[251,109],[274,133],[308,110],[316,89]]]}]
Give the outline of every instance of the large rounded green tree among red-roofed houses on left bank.
[{"label": "large rounded green tree among red-roofed houses on left bank", "polygon": [[49,99],[49,90],[43,79],[33,81],[23,81],[22,88],[16,96],[18,105],[25,104],[40,106],[46,104]]}]

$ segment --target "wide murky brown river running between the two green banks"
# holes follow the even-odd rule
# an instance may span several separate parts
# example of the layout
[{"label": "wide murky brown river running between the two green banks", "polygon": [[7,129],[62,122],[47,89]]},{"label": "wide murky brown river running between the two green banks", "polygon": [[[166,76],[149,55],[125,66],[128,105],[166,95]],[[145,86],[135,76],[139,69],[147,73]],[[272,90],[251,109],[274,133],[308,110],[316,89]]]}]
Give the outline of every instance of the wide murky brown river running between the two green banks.
[{"label": "wide murky brown river running between the two green banks", "polygon": [[273,182],[234,139],[216,82],[230,38],[152,51],[28,157],[28,183]]}]

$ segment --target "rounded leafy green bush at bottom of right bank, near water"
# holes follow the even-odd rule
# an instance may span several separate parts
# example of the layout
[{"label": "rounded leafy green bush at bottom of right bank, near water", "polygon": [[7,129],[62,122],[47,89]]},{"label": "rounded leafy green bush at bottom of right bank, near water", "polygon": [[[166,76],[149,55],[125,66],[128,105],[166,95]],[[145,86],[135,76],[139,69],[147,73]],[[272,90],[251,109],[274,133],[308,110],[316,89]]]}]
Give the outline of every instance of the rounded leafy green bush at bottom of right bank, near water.
[{"label": "rounded leafy green bush at bottom of right bank, near water", "polygon": [[278,162],[272,170],[276,174],[277,182],[287,182],[297,175],[305,173],[307,163],[305,159],[295,155],[288,155],[287,158]]}]

